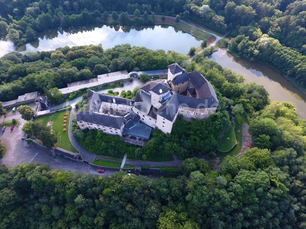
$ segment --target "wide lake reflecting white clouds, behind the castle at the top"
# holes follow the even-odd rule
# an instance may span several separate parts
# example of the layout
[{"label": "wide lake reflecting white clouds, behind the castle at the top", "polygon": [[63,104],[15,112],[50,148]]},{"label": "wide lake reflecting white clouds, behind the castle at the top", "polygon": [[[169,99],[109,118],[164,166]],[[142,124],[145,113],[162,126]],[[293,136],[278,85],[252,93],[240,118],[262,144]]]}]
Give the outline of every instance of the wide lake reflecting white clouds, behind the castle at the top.
[{"label": "wide lake reflecting white clouds, behind the castle at the top", "polygon": [[[129,43],[131,46],[144,46],[149,49],[174,50],[187,55],[190,47],[199,47],[201,41],[188,33],[184,33],[169,26],[116,26],[88,25],[78,28],[67,28],[58,31],[53,29],[39,35],[39,39],[31,44],[19,47],[17,51],[49,51],[68,45],[98,45],[103,49],[112,48],[115,45]],[[11,42],[0,41],[0,56],[14,51]]]}]

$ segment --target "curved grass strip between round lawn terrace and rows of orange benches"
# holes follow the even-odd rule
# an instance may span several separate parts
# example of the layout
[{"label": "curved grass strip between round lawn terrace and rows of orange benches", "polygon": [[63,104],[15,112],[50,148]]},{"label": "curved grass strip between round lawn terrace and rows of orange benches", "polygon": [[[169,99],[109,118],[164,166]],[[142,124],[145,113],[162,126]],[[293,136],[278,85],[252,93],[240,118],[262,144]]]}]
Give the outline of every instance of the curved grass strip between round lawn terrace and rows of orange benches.
[{"label": "curved grass strip between round lawn terrace and rows of orange benches", "polygon": [[[222,162],[223,158],[225,158],[227,155],[236,156],[240,151],[242,147],[242,125],[248,124],[246,119],[242,115],[236,115],[235,116],[235,135],[237,144],[233,147],[233,149],[230,152],[222,153],[217,151],[217,158],[220,158],[220,163]],[[216,158],[211,154],[210,158]]]}]

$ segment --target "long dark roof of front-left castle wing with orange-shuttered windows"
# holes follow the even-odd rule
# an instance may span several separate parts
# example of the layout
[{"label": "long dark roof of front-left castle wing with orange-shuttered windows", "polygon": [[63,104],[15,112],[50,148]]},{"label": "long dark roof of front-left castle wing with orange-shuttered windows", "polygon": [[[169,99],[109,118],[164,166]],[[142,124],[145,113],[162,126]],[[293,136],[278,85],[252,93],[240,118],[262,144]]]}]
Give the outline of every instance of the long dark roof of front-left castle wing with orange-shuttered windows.
[{"label": "long dark roof of front-left castle wing with orange-shuttered windows", "polygon": [[116,129],[121,128],[123,120],[124,117],[114,117],[112,115],[98,114],[89,111],[80,111],[80,113],[76,117],[76,122],[84,121],[87,123],[95,123],[97,125],[103,125]]}]

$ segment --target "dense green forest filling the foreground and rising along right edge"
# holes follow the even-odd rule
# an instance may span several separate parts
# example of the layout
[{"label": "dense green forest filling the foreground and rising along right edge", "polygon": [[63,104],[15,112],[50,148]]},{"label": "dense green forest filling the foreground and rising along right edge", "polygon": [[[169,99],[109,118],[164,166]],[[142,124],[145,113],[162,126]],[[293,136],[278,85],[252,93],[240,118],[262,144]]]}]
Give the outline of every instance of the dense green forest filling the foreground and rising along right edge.
[{"label": "dense green forest filling the foreground and rising along right edge", "polygon": [[250,131],[257,147],[227,156],[220,172],[186,160],[177,178],[2,165],[0,227],[305,228],[306,121],[274,102],[254,113]]}]

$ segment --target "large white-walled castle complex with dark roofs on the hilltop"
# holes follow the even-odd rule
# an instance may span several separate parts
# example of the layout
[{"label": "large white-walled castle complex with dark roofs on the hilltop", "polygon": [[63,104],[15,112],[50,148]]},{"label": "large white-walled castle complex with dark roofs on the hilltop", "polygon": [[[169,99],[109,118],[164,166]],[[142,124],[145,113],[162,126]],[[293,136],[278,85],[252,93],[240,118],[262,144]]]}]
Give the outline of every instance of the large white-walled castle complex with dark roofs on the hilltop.
[{"label": "large white-walled castle complex with dark roofs on the hilltop", "polygon": [[187,73],[177,63],[168,66],[167,79],[145,84],[134,100],[92,90],[87,98],[86,111],[76,118],[81,129],[103,130],[123,136],[128,142],[128,137],[136,137],[135,142],[140,145],[149,139],[151,128],[170,133],[178,115],[185,120],[203,119],[219,105],[214,88],[203,75],[198,71]]}]

